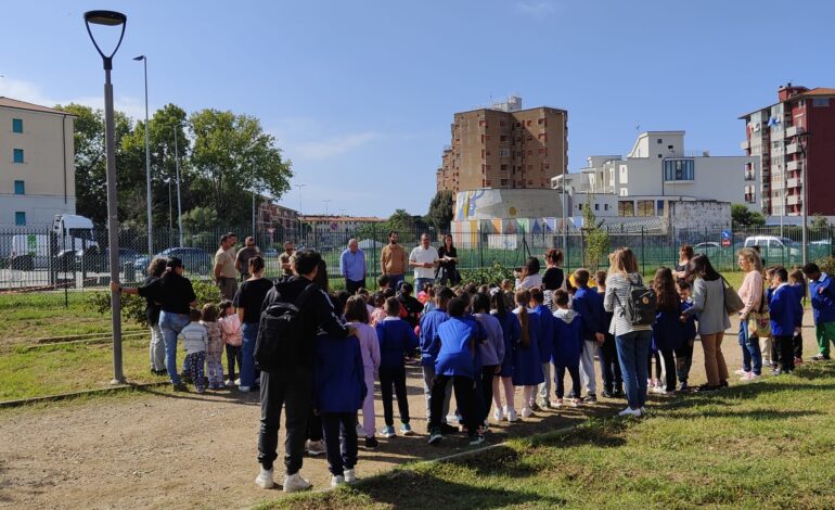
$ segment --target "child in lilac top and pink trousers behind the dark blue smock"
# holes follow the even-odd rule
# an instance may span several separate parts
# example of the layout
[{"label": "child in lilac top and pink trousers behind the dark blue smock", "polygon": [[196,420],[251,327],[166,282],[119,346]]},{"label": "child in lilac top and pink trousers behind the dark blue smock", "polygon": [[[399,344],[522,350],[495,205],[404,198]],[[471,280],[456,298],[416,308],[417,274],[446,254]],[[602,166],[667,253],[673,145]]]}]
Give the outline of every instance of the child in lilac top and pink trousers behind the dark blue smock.
[{"label": "child in lilac top and pink trousers behind the dark blue smock", "polygon": [[362,296],[351,296],[345,304],[345,320],[357,330],[362,353],[363,380],[368,392],[362,401],[362,432],[365,434],[365,448],[380,446],[374,437],[374,379],[380,370],[380,341],[377,331],[369,326],[369,314]]}]

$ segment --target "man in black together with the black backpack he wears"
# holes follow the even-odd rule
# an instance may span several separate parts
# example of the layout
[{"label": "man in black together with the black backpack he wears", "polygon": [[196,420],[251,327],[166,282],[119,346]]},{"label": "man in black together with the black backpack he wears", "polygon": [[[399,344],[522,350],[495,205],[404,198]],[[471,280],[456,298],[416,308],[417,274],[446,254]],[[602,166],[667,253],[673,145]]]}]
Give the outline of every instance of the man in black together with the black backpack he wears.
[{"label": "man in black together with the black backpack he wears", "polygon": [[334,339],[356,334],[354,327],[342,324],[327,294],[313,283],[321,259],[312,250],[299,251],[293,266],[296,276],[277,281],[264,299],[255,346],[255,361],[261,370],[261,471],[255,483],[262,488],[274,485],[272,471],[278,458],[282,407],[286,430],[283,489],[294,493],[310,488],[310,482],[301,477],[299,470],[307,421],[313,409],[317,333],[321,329]]}]

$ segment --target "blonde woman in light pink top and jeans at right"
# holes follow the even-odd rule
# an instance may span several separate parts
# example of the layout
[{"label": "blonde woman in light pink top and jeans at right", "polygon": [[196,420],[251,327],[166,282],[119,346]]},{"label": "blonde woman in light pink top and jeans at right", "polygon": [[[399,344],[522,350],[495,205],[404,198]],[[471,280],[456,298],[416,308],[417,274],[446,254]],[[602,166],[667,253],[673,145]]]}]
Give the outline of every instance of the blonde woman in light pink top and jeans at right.
[{"label": "blonde woman in light pink top and jeans at right", "polygon": [[757,314],[762,304],[765,292],[762,281],[762,262],[759,254],[749,247],[740,250],[736,254],[736,264],[745,273],[740,285],[740,298],[745,307],[740,310],[740,347],[742,347],[742,370],[736,373],[742,375],[741,381],[754,381],[762,374],[762,353],[759,346],[757,331],[748,331],[748,316]]}]

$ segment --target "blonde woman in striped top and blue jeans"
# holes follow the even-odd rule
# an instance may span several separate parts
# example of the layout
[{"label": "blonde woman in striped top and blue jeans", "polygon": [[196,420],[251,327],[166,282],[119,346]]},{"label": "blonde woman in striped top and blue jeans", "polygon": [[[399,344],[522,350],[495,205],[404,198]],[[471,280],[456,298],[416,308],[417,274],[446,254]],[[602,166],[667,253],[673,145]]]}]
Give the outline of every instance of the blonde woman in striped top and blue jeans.
[{"label": "blonde woman in striped top and blue jeans", "polygon": [[614,314],[608,332],[615,336],[629,403],[618,415],[640,417],[646,412],[647,360],[653,331],[650,324],[633,324],[627,319],[625,304],[630,299],[630,286],[643,285],[643,279],[638,272],[638,260],[628,247],[617,250],[609,260],[603,307]]}]

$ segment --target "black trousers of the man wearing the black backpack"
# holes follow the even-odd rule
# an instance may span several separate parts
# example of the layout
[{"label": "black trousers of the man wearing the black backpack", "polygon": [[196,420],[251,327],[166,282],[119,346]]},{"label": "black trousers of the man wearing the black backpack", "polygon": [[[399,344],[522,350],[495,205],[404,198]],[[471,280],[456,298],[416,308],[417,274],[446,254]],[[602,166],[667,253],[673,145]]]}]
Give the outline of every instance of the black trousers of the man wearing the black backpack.
[{"label": "black trousers of the man wearing the black backpack", "polygon": [[313,371],[295,367],[281,372],[261,372],[261,429],[258,435],[258,462],[272,469],[278,458],[281,408],[284,406],[284,467],[287,474],[301,469],[307,421],[313,406]]}]

